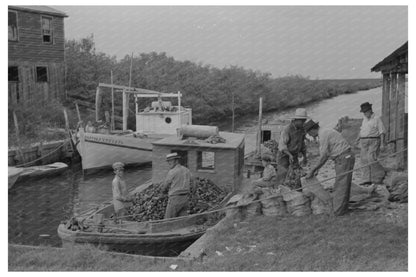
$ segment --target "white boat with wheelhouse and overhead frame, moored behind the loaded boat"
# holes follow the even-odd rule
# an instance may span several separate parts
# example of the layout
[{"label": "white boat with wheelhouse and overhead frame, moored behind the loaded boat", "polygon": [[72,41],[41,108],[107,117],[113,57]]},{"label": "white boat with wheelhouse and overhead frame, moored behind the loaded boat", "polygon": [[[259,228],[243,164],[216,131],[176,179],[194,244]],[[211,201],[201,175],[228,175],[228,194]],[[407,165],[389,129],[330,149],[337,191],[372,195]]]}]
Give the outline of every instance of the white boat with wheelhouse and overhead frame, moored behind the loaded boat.
[{"label": "white boat with wheelhouse and overhead frame, moored behind the loaded boat", "polygon": [[[114,130],[106,123],[98,128],[87,125],[79,128],[73,136],[74,145],[81,156],[82,169],[99,169],[110,167],[114,162],[123,162],[126,165],[144,164],[151,162],[152,142],[177,134],[177,129],[192,124],[192,109],[181,106],[180,92],[161,93],[152,90],[109,85],[100,83],[96,93],[96,121],[99,122],[100,103],[104,89],[111,89],[114,93],[123,96],[123,128]],[[136,130],[127,129],[129,96],[135,99]],[[139,110],[138,101],[141,98],[157,98],[151,106]],[[163,98],[177,98],[178,104],[172,105]]]}]

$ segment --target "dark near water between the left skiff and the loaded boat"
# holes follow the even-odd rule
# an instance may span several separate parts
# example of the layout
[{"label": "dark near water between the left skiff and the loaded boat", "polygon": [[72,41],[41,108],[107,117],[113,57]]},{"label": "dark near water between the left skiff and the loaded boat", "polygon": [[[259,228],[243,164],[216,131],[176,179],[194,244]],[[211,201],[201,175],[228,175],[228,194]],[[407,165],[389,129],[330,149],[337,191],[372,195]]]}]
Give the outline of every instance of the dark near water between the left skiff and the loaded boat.
[{"label": "dark near water between the left skiff and the loaded boat", "polygon": [[[128,188],[151,178],[151,168],[127,169]],[[9,190],[9,243],[61,246],[59,223],[75,213],[111,201],[112,171],[82,176],[80,171],[16,183]]]}]

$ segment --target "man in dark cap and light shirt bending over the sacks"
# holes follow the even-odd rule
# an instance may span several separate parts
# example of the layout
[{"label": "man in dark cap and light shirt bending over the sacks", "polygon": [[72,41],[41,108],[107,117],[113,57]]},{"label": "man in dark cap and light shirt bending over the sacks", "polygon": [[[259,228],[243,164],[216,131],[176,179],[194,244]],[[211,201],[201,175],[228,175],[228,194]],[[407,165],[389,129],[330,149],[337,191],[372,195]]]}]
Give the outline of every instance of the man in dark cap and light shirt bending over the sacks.
[{"label": "man in dark cap and light shirt bending over the sacks", "polygon": [[[336,174],[332,207],[335,215],[343,215],[348,210],[352,180],[351,170],[355,163],[351,146],[339,132],[334,129],[322,129],[319,127],[319,123],[313,120],[305,123],[305,131],[313,138],[319,137],[319,162],[312,167],[306,178],[316,175],[326,161],[329,158],[332,159]],[[348,171],[351,172],[346,173]]]}]

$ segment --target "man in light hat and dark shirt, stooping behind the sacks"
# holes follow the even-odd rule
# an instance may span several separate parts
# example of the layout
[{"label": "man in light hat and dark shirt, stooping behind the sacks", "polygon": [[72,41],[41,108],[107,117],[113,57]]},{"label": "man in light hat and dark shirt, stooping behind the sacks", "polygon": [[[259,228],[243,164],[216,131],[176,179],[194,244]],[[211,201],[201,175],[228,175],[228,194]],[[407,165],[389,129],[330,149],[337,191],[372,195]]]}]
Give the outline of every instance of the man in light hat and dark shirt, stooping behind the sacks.
[{"label": "man in light hat and dark shirt, stooping behind the sacks", "polygon": [[[299,168],[298,156],[302,154],[302,165],[306,165],[306,145],[305,145],[305,130],[303,124],[308,118],[306,109],[296,109],[295,115],[290,119],[292,122],[285,126],[280,134],[279,151],[277,153],[278,180],[285,180],[289,166],[292,168]],[[292,182],[290,182],[292,183]],[[292,188],[300,188],[300,179],[295,182]]]}]

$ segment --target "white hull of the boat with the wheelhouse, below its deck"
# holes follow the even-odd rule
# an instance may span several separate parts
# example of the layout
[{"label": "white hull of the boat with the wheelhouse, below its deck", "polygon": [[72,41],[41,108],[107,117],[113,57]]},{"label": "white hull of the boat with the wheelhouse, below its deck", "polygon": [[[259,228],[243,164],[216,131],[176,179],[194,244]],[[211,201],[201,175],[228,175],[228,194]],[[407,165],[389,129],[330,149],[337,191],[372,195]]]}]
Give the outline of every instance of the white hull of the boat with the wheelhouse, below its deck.
[{"label": "white hull of the boat with the wheelhouse, below its deck", "polygon": [[77,150],[81,155],[82,169],[111,167],[115,162],[126,165],[152,161],[152,142],[163,135],[138,138],[133,135],[99,134],[79,132]]}]

